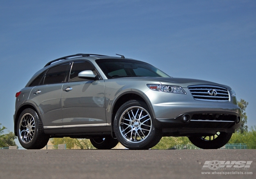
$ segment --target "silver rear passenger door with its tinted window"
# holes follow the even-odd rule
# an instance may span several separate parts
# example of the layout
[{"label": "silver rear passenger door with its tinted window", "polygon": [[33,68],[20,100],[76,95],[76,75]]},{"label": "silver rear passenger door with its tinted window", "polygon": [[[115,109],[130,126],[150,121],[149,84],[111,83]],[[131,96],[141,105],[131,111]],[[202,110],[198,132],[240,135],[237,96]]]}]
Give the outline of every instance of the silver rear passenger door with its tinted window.
[{"label": "silver rear passenger door with its tinted window", "polygon": [[41,82],[32,89],[29,102],[38,107],[44,128],[62,128],[61,89],[69,70],[70,63],[60,64],[35,80]]}]

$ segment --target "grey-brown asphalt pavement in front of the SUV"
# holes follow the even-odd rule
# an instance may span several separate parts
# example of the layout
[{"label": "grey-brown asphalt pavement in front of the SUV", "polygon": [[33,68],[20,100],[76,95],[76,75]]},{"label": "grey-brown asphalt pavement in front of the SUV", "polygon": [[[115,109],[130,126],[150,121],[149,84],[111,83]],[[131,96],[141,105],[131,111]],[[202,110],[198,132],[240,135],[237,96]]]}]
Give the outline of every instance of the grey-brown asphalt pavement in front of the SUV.
[{"label": "grey-brown asphalt pavement in front of the SUV", "polygon": [[[214,166],[205,164],[211,161]],[[227,168],[218,168],[230,161]],[[235,162],[238,162],[234,168]],[[245,162],[247,168],[244,167]],[[217,163],[216,163],[217,162]],[[223,163],[223,162],[222,162]],[[226,163],[228,164],[228,163]],[[249,166],[249,167],[248,167]],[[236,168],[237,167],[237,168]],[[240,168],[239,168],[240,167]],[[203,168],[203,169],[202,169]],[[210,174],[202,174],[210,172]],[[252,174],[245,174],[245,173]],[[229,174],[228,174],[229,173]],[[243,174],[242,174],[243,173]],[[256,178],[256,150],[0,150],[0,179]]]}]

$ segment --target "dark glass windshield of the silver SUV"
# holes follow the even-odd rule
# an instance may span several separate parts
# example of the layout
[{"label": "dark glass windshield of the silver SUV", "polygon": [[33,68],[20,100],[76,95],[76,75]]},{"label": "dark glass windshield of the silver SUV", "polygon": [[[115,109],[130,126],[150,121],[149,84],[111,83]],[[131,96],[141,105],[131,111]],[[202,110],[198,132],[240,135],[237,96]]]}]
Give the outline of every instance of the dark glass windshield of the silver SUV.
[{"label": "dark glass windshield of the silver SUV", "polygon": [[97,59],[96,63],[109,79],[132,76],[170,77],[154,66],[136,60]]}]

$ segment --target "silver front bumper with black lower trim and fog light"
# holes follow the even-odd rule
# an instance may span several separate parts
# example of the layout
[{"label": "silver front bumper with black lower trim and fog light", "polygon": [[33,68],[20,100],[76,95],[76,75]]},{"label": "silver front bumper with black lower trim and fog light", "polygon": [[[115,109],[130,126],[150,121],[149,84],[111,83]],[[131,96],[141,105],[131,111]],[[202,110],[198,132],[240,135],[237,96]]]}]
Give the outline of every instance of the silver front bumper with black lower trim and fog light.
[{"label": "silver front bumper with black lower trim and fog light", "polygon": [[[187,94],[176,94],[149,90],[144,93],[150,101],[151,112],[156,128],[184,130],[218,130],[234,131],[240,126],[241,110],[235,97],[229,102],[198,101],[190,91]],[[183,117],[189,118],[187,121]],[[225,131],[226,130],[226,131]]]}]

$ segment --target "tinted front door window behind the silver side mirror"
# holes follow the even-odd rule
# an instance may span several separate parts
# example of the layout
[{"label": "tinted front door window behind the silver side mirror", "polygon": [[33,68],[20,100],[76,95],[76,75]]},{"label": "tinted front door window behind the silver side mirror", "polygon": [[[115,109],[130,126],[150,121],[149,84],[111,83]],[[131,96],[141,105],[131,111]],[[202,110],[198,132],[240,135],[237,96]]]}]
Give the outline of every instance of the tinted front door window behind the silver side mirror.
[{"label": "tinted front door window behind the silver side mirror", "polygon": [[87,62],[87,61],[74,61],[73,65],[72,65],[72,69],[70,71],[69,81],[72,82],[72,81],[88,80],[88,79],[78,77],[78,74],[82,71],[85,71],[85,70],[91,70],[96,75],[93,65],[91,65],[89,62]]}]

